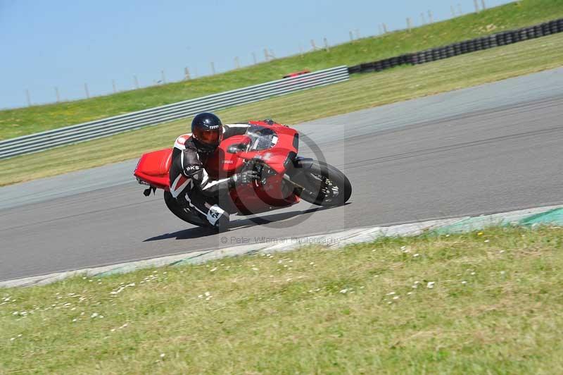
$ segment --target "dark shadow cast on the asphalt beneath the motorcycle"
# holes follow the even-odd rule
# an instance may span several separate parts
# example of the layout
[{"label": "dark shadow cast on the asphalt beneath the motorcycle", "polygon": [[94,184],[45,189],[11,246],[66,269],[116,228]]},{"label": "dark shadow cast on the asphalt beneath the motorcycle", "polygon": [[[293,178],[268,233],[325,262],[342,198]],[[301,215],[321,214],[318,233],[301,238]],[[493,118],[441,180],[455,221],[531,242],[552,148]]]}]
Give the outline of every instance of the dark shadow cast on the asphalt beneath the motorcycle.
[{"label": "dark shadow cast on the asphalt beneath the motorcycle", "polygon": [[[287,220],[299,215],[313,214],[317,211],[324,211],[325,209],[331,209],[331,208],[335,208],[335,207],[318,207],[313,209],[305,209],[303,211],[281,212],[279,214],[256,216],[253,217],[252,219],[237,220],[231,223],[231,226],[229,226],[229,231],[227,233],[230,233],[236,229],[249,228],[251,226],[263,226],[267,223]],[[196,226],[184,230],[178,230],[177,232],[173,232],[173,233],[166,233],[163,235],[157,235],[155,237],[147,238],[143,242],[167,240],[169,238],[175,238],[176,240],[191,240],[194,238],[208,237],[210,235],[217,235],[217,232],[211,228],[203,228]]]}]

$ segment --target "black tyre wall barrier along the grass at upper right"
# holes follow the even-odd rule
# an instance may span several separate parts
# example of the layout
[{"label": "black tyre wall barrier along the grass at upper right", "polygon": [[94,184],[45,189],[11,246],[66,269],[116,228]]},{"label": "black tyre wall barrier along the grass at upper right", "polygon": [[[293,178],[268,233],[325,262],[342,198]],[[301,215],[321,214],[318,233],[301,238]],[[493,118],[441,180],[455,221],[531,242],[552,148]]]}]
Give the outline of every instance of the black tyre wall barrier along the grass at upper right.
[{"label": "black tyre wall barrier along the grass at upper right", "polygon": [[497,34],[487,35],[475,39],[468,39],[462,42],[448,44],[447,46],[426,49],[424,51],[415,52],[413,54],[404,54],[394,56],[389,59],[372,61],[371,63],[361,63],[356,66],[349,66],[348,73],[368,73],[379,72],[389,68],[395,68],[401,65],[418,65],[430,63],[441,59],[448,59],[453,56],[469,54],[474,51],[490,49],[507,44],[523,42],[528,39],[535,39],[547,35],[563,32],[563,18],[533,25],[522,27],[517,30],[498,32]]}]

